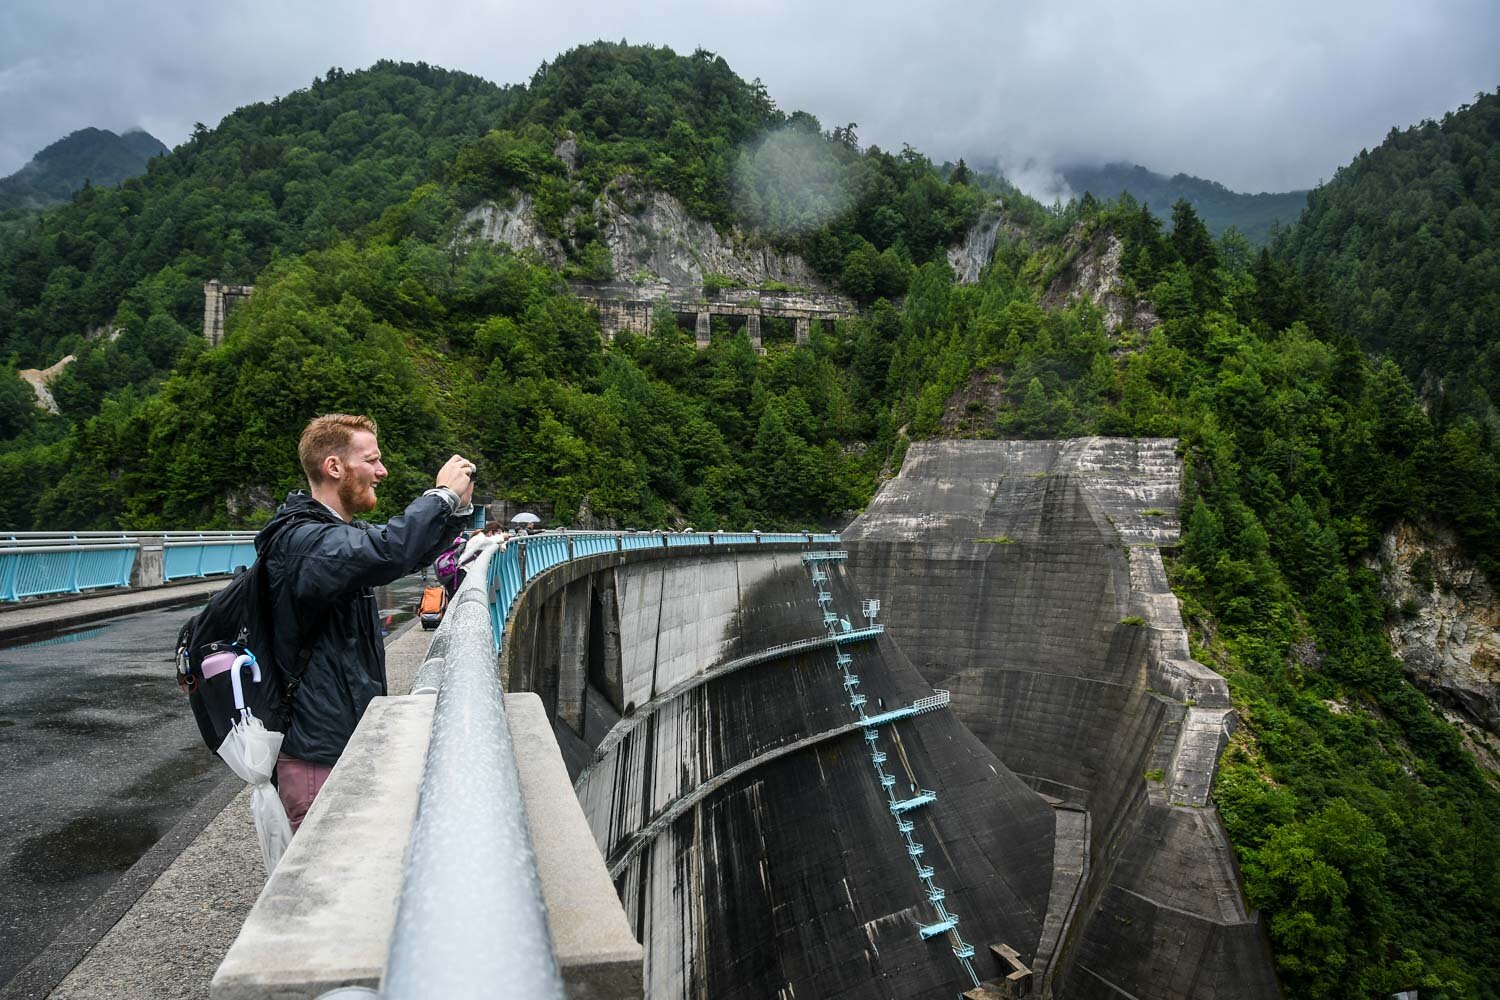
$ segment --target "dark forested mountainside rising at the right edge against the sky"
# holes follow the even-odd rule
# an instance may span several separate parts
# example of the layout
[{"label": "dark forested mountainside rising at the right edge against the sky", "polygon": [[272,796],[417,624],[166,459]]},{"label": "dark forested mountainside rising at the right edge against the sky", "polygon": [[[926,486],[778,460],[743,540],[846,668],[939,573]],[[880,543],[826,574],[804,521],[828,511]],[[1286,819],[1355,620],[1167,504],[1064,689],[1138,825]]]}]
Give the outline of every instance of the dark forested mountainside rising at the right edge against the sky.
[{"label": "dark forested mountainside rising at the right edge against the sky", "polygon": [[1362,150],[1312,192],[1280,255],[1442,418],[1500,432],[1500,91]]}]

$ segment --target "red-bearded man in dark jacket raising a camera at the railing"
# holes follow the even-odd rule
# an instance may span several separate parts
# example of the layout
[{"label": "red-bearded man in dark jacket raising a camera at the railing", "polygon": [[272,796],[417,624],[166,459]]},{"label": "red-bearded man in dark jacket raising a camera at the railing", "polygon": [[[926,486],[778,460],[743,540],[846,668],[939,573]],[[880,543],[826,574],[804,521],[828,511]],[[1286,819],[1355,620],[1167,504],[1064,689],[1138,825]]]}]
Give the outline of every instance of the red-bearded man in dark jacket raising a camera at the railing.
[{"label": "red-bearded man in dark jacket raising a camera at the railing", "polygon": [[366,706],[386,694],[375,588],[432,562],[474,510],[474,465],[453,456],[404,514],[381,528],[356,520],[375,508],[387,475],[375,435],[369,417],[312,420],[297,445],[309,492],[290,493],[255,540],[270,579],[276,661],[292,675],[276,784],[294,832]]}]

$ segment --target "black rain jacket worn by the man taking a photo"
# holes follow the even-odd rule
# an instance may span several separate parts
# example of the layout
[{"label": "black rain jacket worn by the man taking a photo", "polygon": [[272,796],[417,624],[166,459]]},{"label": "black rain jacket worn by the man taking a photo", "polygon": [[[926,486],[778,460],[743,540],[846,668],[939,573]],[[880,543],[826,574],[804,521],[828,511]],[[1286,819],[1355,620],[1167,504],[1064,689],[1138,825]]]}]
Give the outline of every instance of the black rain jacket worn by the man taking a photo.
[{"label": "black rain jacket worn by the man taking a photo", "polygon": [[[297,523],[268,534],[288,517]],[[286,496],[255,538],[270,579],[276,661],[296,664],[303,643],[310,648],[292,696],[284,754],[338,762],[370,700],[386,694],[375,588],[432,562],[465,520],[452,516],[438,495],[418,496],[382,528],[345,523],[302,490]]]}]

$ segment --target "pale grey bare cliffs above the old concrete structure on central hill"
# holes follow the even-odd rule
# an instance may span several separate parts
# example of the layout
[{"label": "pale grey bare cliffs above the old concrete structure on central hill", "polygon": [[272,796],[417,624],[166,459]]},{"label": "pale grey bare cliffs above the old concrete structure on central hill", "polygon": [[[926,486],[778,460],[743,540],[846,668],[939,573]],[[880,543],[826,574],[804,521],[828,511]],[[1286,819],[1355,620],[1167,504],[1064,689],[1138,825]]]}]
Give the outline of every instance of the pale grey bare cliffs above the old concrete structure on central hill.
[{"label": "pale grey bare cliffs above the old concrete structure on central hill", "polygon": [[[519,195],[510,207],[482,204],[465,222],[486,240],[537,250],[552,267],[567,262],[561,240],[537,225],[530,195]],[[672,195],[628,177],[616,178],[594,201],[592,222],[609,250],[616,280],[682,286],[702,285],[708,274],[720,274],[750,288],[780,282],[825,289],[813,268],[795,253],[758,243],[738,229],[723,234],[712,223],[693,217]]]}]

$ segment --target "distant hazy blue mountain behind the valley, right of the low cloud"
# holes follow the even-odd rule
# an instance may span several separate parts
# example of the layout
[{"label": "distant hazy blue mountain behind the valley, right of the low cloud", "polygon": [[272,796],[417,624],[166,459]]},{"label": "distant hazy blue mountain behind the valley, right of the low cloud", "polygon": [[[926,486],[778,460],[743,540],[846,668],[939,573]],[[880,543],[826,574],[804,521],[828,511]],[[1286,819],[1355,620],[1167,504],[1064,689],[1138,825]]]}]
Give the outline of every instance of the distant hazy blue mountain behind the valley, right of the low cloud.
[{"label": "distant hazy blue mountain behind the valley, right of the low cloud", "polygon": [[1218,181],[1190,174],[1167,177],[1136,163],[1074,165],[1059,172],[1080,198],[1088,192],[1106,201],[1128,192],[1158,216],[1172,214],[1172,205],[1186,201],[1214,235],[1234,226],[1256,246],[1270,240],[1274,226],[1294,223],[1308,196],[1305,190],[1244,195]]}]

